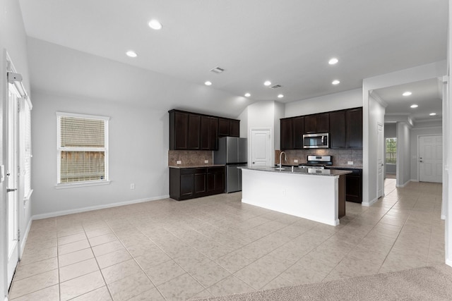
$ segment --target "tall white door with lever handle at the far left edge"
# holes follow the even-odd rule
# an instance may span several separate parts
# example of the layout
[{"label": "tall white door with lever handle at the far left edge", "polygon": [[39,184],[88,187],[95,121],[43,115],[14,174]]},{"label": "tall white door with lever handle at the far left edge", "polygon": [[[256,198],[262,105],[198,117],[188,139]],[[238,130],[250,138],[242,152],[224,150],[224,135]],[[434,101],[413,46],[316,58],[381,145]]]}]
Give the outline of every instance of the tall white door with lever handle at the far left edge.
[{"label": "tall white door with lever handle at the far left edge", "polygon": [[8,285],[19,259],[18,244],[18,99],[16,87],[8,84],[8,166],[6,169],[8,199]]}]

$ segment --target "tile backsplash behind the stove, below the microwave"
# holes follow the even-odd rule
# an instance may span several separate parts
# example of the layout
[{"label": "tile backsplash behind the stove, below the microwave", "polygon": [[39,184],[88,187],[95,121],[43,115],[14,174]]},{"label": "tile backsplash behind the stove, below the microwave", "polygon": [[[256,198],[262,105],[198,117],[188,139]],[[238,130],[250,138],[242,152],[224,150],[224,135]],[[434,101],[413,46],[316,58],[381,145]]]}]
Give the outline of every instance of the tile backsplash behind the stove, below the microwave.
[{"label": "tile backsplash behind the stove, below the microwave", "polygon": [[[275,164],[280,163],[280,152],[280,150],[275,151]],[[285,154],[287,161],[284,161],[283,155],[283,164],[303,164],[306,163],[307,156],[313,154],[331,155],[335,166],[362,167],[362,149],[290,149],[285,151]],[[298,163],[294,160],[298,160]],[[353,164],[349,165],[349,161]]]}]

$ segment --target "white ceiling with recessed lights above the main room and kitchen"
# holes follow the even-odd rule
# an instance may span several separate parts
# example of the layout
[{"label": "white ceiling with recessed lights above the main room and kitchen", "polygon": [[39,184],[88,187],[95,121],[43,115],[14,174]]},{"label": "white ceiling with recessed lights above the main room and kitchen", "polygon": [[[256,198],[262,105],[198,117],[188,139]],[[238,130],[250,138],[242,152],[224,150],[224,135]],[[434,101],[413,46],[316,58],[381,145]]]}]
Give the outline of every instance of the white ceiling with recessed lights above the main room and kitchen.
[{"label": "white ceiling with recessed lights above the main room and kitchen", "polygon": [[[20,6],[29,37],[186,82],[210,80],[210,89],[250,92],[254,101],[352,90],[363,78],[446,59],[447,0],[20,0]],[[148,27],[153,18],[162,30]],[[136,59],[125,55],[129,49]],[[329,66],[333,56],[339,63]],[[211,73],[216,66],[225,72]],[[331,85],[334,79],[340,85]],[[272,90],[264,80],[283,87]],[[381,96],[392,104],[390,92]]]}]

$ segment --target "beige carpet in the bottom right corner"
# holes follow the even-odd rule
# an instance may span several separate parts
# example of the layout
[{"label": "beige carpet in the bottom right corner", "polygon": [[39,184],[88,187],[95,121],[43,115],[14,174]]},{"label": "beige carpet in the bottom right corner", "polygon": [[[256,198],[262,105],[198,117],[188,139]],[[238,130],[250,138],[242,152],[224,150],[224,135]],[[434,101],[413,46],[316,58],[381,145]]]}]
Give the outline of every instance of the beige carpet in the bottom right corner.
[{"label": "beige carpet in the bottom right corner", "polygon": [[427,266],[200,300],[452,300],[452,267]]}]

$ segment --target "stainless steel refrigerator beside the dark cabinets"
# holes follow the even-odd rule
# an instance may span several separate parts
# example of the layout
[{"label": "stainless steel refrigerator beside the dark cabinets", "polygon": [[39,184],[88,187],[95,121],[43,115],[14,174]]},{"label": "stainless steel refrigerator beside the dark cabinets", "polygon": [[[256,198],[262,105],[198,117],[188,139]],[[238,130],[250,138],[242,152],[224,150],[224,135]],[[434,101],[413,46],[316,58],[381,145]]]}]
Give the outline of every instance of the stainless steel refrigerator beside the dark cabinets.
[{"label": "stainless steel refrigerator beside the dark cabinets", "polygon": [[225,192],[242,190],[242,169],[248,161],[246,138],[221,137],[218,140],[218,150],[213,153],[214,164],[226,165]]}]

